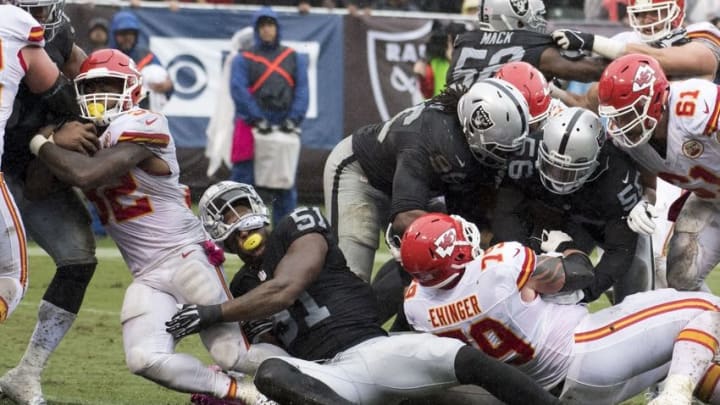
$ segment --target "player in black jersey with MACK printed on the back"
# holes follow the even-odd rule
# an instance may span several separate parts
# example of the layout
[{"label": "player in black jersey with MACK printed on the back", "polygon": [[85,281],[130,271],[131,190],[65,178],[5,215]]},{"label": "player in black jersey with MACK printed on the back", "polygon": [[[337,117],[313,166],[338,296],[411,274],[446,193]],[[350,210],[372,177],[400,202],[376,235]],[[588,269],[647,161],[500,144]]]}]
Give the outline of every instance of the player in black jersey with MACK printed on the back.
[{"label": "player in black jersey with MACK printed on the back", "polygon": [[598,58],[569,57],[545,34],[547,21],[542,0],[483,0],[480,30],[457,37],[447,84],[469,86],[492,77],[507,62],[524,61],[549,78],[596,81],[607,62]]}]

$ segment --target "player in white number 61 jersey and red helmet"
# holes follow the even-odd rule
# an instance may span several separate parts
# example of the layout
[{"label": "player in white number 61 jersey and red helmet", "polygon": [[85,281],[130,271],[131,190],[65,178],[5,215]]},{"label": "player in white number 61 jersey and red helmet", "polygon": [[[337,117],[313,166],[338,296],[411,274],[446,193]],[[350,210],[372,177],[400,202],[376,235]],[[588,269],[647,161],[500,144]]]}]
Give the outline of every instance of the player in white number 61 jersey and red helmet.
[{"label": "player in white number 61 jersey and red helmet", "polygon": [[648,173],[687,192],[668,246],[669,286],[707,288],[704,280],[720,262],[718,86],[669,83],[654,58],[635,54],[608,65],[599,100],[615,143]]}]

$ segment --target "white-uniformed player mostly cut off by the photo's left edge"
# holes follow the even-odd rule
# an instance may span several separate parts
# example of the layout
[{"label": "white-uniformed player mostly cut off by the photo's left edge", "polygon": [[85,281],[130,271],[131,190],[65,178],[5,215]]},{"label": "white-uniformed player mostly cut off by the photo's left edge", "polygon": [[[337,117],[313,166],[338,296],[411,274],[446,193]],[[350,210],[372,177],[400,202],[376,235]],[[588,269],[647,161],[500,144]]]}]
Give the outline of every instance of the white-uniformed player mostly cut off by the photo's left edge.
[{"label": "white-uniformed player mostly cut off by the photo's left edge", "polygon": [[[22,80],[34,93],[41,94],[52,109],[67,100],[67,79],[47,55],[43,46],[43,27],[24,10],[0,4],[0,151],[5,125]],[[15,202],[0,176],[0,322],[15,310],[27,288],[25,229]]]}]

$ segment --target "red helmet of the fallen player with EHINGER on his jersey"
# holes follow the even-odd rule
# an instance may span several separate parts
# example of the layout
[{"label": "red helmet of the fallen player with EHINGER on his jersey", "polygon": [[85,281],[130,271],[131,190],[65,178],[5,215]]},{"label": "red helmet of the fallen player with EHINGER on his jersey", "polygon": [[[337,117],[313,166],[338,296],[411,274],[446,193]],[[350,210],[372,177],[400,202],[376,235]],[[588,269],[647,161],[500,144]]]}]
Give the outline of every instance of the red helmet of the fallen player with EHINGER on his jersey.
[{"label": "red helmet of the fallen player with EHINGER on his jersey", "polygon": [[479,255],[480,231],[463,218],[429,213],[405,230],[400,258],[405,271],[420,285],[442,288],[465,270]]}]

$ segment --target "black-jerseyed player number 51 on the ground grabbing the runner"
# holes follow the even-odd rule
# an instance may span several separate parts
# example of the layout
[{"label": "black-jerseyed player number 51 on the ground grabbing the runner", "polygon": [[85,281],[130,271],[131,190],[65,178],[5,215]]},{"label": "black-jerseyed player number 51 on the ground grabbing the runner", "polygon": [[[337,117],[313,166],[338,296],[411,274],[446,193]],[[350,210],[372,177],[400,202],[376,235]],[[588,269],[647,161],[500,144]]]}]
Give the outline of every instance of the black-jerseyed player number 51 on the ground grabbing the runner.
[{"label": "black-jerseyed player number 51 on the ground grabbing the runner", "polygon": [[[484,386],[509,404],[557,403],[529,377],[477,349],[430,334],[387,336],[370,286],[350,271],[317,208],[298,208],[268,231],[252,186],[221,182],[200,204],[206,230],[246,263],[232,301],[189,306],[167,322],[176,339],[218,322],[272,318],[295,357],[260,365],[258,389],[279,403],[397,403],[458,384]],[[325,360],[325,362],[322,362]]]}]

